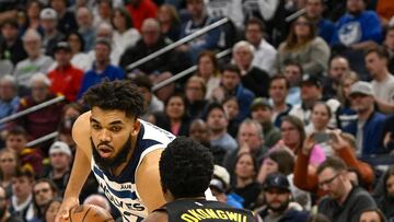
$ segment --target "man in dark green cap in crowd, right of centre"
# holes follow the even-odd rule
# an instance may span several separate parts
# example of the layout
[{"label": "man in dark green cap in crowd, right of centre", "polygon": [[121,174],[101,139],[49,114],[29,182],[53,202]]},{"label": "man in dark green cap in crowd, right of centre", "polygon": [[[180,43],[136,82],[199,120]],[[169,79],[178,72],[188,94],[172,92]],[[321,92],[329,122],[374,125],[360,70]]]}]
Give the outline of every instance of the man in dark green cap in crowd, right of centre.
[{"label": "man in dark green cap in crowd, right of centre", "polygon": [[275,145],[281,138],[279,129],[273,122],[273,106],[267,98],[257,97],[251,105],[252,119],[263,127],[264,144],[268,148]]}]

